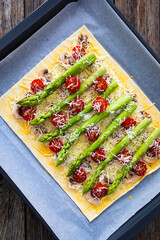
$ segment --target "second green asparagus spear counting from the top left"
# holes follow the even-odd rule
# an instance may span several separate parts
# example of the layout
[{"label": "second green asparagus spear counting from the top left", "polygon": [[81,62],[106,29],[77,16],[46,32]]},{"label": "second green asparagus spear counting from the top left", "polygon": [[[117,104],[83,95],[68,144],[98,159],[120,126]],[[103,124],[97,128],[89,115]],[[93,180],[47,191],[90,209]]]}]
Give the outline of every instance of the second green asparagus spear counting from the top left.
[{"label": "second green asparagus spear counting from the top left", "polygon": [[77,96],[80,96],[84,91],[86,91],[94,82],[95,79],[102,76],[104,73],[106,73],[106,68],[101,66],[98,68],[89,78],[87,78],[80,86],[78,91],[70,94],[63,102],[59,103],[58,105],[54,106],[51,110],[48,112],[42,113],[38,115],[36,118],[34,118],[29,124],[30,125],[39,125],[46,121],[49,117],[52,116],[52,114],[59,112],[61,109],[66,107],[69,102],[71,102],[74,98]]}]

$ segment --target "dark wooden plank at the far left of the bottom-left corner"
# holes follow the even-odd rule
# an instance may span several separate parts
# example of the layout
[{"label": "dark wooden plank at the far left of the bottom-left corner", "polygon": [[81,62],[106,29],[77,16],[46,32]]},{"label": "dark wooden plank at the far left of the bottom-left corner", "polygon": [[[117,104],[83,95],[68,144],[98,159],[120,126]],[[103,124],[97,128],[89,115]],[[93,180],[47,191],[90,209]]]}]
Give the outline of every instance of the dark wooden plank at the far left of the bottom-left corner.
[{"label": "dark wooden plank at the far left of the bottom-left corner", "polygon": [[0,240],[25,240],[25,203],[0,178]]}]

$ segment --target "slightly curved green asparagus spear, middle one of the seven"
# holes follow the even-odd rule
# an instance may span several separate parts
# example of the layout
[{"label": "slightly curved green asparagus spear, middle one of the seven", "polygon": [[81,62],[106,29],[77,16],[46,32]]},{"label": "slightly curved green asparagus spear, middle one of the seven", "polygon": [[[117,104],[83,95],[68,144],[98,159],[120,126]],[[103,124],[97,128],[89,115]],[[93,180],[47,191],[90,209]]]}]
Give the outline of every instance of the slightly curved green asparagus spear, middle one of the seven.
[{"label": "slightly curved green asparagus spear, middle one of the seven", "polygon": [[[95,114],[93,117],[88,119],[86,122],[84,122],[81,126],[79,126],[74,133],[72,133],[70,139],[63,145],[61,151],[58,154],[56,166],[59,166],[62,162],[64,162],[66,155],[69,151],[69,148],[72,146],[72,144],[75,142],[76,139],[90,126],[93,126],[100,122],[104,117],[108,117],[112,112],[117,111],[121,107],[123,107],[125,104],[131,101],[130,95],[125,95],[121,97],[118,101],[112,103],[109,105],[105,112],[101,112],[99,114]],[[133,103],[132,103],[133,104]]]}]

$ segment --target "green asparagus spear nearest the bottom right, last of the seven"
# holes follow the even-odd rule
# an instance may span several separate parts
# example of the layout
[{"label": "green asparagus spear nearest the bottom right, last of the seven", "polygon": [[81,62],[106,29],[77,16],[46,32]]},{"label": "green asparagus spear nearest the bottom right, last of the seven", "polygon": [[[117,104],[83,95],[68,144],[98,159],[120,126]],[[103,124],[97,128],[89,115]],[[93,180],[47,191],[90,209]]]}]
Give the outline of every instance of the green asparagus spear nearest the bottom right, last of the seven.
[{"label": "green asparagus spear nearest the bottom right, last of the seven", "polygon": [[160,135],[160,129],[156,128],[146,139],[146,141],[142,144],[142,146],[138,149],[138,151],[133,156],[132,160],[126,165],[121,173],[117,176],[114,182],[109,186],[107,195],[113,193],[116,188],[119,186],[123,178],[127,175],[127,173],[132,169],[132,167],[138,162],[138,160],[143,156],[143,154],[147,151],[149,146],[153,143],[153,141]]}]

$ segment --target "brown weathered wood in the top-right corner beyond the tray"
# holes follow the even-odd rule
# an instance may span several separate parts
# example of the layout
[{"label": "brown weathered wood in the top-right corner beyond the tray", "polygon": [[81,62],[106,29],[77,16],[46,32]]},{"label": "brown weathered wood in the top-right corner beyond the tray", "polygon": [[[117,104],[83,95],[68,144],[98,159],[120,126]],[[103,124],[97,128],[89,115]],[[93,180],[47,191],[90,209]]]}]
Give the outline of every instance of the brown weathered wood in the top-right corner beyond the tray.
[{"label": "brown weathered wood in the top-right corner beyond the tray", "polygon": [[160,0],[115,0],[114,3],[160,55]]}]

